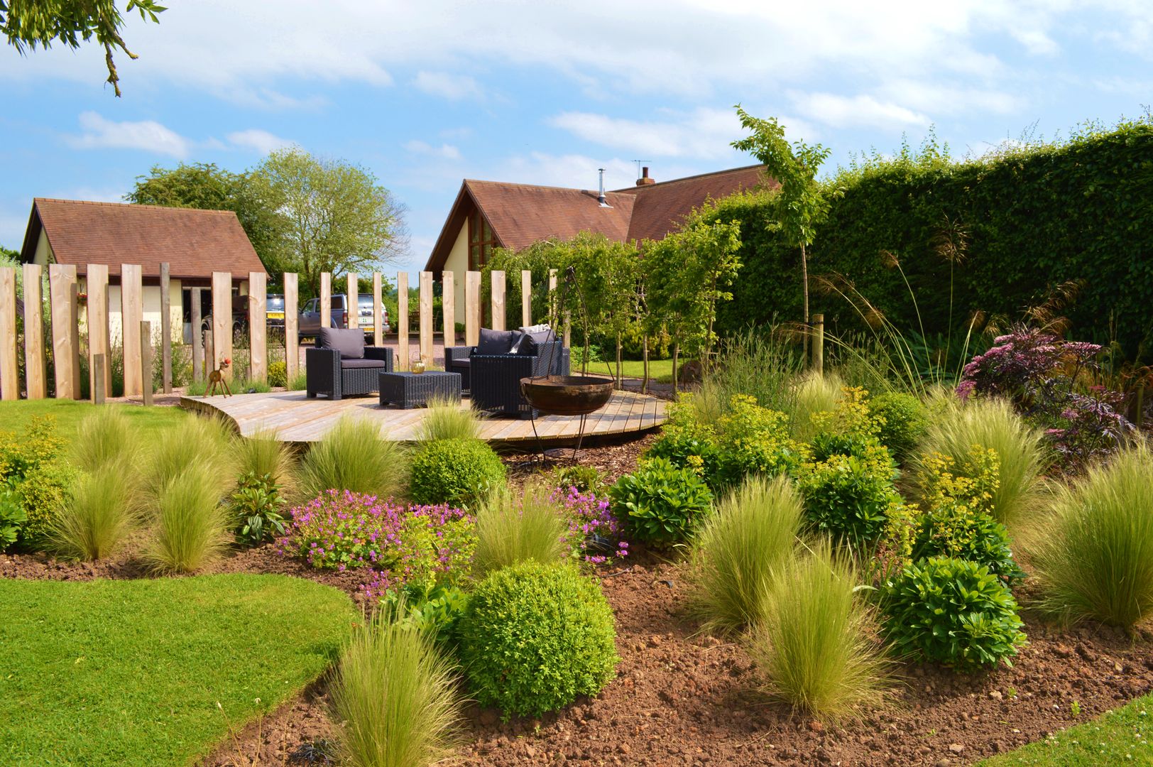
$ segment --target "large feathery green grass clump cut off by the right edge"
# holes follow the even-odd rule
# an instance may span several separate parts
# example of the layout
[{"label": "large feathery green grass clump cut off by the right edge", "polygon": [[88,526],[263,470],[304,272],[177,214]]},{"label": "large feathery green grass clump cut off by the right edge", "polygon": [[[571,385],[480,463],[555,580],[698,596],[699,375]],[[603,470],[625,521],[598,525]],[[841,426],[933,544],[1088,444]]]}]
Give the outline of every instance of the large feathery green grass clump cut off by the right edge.
[{"label": "large feathery green grass clump cut off by the right edge", "polygon": [[1055,494],[1028,547],[1040,607],[1123,629],[1153,615],[1153,450],[1145,442]]}]

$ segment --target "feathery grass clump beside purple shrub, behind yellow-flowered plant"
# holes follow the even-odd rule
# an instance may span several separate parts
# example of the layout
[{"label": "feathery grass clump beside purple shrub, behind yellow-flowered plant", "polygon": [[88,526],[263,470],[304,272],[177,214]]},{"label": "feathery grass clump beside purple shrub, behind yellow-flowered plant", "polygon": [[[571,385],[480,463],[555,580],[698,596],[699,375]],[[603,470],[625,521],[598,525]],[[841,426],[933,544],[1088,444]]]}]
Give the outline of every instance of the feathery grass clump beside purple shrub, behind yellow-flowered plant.
[{"label": "feathery grass clump beside purple shrub, behind yellow-flowered plant", "polygon": [[[940,409],[918,448],[913,469],[924,474],[925,458],[934,454],[964,466],[973,445],[995,451],[1000,459],[998,486],[989,513],[1012,528],[1025,522],[1039,503],[1047,460],[1043,439],[1041,430],[1028,426],[1008,401],[974,399],[962,407]],[[926,495],[925,488],[919,491]]]}]

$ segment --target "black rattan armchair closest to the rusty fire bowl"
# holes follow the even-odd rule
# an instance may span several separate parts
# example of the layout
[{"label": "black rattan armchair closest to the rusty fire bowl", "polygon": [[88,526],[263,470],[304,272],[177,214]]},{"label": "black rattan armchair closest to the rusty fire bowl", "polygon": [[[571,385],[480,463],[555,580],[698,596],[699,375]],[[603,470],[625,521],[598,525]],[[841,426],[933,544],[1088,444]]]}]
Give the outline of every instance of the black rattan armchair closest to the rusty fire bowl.
[{"label": "black rattan armchair closest to the rusty fire bowl", "polygon": [[[457,347],[467,348],[467,347]],[[445,360],[447,361],[447,355]],[[560,341],[541,344],[536,355],[473,354],[468,359],[473,406],[499,415],[529,419],[536,415],[520,393],[520,379],[532,376],[568,375],[568,349]],[[458,368],[450,368],[459,373]],[[466,378],[461,376],[464,383]]]}]

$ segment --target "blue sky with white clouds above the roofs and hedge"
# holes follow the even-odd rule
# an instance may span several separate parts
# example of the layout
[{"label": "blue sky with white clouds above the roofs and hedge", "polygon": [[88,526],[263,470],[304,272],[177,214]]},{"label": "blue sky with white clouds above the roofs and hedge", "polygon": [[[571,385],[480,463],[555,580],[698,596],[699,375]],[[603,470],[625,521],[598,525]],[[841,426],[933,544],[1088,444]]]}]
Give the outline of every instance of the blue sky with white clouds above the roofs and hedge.
[{"label": "blue sky with white clouds above the roofs and hedge", "polygon": [[[171,0],[129,21],[123,98],[103,53],[0,47],[0,245],[32,197],[119,201],[153,165],[241,171],[299,144],[363,165],[408,206],[420,269],[464,178],[628,186],[753,161],[732,105],[832,165],[955,155],[1153,101],[1147,0],[364,2]],[[785,7],[787,6],[787,7]],[[721,9],[718,9],[721,8]]]}]

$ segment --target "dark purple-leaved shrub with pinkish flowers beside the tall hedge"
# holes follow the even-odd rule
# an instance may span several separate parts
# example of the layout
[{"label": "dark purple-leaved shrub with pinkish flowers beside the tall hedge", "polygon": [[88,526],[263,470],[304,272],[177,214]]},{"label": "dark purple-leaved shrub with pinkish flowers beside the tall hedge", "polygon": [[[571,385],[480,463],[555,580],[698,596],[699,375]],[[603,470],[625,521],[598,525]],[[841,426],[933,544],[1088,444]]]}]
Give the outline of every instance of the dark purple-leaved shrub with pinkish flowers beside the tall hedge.
[{"label": "dark purple-leaved shrub with pinkish flowers beside the tall hedge", "polygon": [[1018,328],[993,341],[962,371],[957,393],[1009,399],[1046,436],[1065,468],[1083,467],[1117,449],[1133,426],[1118,412],[1120,392],[1085,385],[1098,370],[1098,344],[1067,341]]}]

